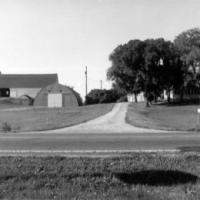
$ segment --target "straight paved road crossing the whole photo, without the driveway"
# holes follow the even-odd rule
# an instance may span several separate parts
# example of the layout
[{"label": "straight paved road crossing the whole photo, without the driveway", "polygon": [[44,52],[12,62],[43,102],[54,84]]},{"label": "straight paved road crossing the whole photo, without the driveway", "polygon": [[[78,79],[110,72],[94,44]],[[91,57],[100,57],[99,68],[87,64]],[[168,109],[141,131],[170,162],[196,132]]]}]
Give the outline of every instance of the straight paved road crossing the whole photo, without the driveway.
[{"label": "straight paved road crossing the whole photo, without the driveway", "polygon": [[[0,135],[1,152],[172,150],[200,146],[200,134],[18,134]],[[30,152],[29,152],[30,151]]]}]

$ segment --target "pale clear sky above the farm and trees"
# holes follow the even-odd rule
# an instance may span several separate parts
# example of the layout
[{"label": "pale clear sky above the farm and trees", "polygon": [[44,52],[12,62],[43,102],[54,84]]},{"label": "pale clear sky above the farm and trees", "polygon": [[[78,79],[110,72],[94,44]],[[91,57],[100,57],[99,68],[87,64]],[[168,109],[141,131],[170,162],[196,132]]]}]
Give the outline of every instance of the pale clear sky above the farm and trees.
[{"label": "pale clear sky above the farm and trees", "polygon": [[0,71],[58,73],[85,96],[109,89],[109,55],[131,39],[163,37],[200,27],[199,0],[0,0]]}]

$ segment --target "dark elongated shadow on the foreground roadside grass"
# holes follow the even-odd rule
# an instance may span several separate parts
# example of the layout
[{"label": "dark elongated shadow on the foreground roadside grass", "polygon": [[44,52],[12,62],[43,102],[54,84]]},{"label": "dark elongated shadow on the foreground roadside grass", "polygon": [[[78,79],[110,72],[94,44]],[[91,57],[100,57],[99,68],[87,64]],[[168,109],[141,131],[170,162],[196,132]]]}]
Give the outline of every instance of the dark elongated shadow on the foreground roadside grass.
[{"label": "dark elongated shadow on the foreground roadside grass", "polygon": [[198,177],[176,170],[143,170],[134,173],[115,173],[114,176],[127,184],[149,186],[172,186],[185,183],[196,183]]}]

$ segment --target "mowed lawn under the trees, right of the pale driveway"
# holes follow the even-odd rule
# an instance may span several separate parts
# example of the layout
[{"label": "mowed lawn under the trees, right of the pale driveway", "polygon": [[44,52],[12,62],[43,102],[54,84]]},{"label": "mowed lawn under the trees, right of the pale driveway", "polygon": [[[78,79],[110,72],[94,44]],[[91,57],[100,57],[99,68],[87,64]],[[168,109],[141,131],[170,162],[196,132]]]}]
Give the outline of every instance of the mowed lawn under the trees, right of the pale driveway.
[{"label": "mowed lawn under the trees, right of the pale driveway", "polygon": [[200,128],[197,108],[200,105],[152,105],[146,108],[144,103],[132,103],[126,121],[138,127],[194,131]]}]

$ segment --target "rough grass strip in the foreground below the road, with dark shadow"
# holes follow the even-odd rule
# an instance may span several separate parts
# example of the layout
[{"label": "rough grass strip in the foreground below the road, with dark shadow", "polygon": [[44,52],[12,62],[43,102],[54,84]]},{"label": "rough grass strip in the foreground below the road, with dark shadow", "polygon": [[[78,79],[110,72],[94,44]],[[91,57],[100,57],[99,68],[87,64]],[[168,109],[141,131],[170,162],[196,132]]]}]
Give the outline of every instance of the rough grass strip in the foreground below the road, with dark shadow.
[{"label": "rough grass strip in the foreground below the road, with dark shadow", "polygon": [[200,157],[1,157],[1,199],[197,200]]}]

